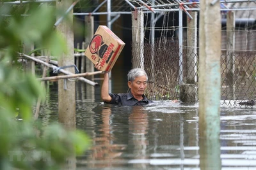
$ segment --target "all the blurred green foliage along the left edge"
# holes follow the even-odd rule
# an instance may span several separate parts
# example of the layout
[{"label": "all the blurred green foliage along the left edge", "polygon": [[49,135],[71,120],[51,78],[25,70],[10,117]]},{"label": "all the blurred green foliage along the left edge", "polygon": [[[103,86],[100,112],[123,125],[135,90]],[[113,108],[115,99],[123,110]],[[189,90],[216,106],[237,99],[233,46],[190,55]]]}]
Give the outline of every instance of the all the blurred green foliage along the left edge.
[{"label": "all the blurred green foliage along the left edge", "polygon": [[61,169],[90,144],[81,131],[33,121],[33,104],[45,92],[16,62],[23,43],[57,57],[65,52],[65,39],[53,27],[56,13],[47,4],[0,4],[0,169]]}]

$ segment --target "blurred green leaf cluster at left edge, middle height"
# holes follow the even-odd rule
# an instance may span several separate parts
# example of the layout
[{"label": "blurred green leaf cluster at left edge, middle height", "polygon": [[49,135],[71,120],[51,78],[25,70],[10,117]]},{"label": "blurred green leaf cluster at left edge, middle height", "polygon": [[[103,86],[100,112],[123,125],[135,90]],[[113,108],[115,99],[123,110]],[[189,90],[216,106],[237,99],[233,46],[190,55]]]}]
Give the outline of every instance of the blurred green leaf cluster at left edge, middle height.
[{"label": "blurred green leaf cluster at left edge, middle height", "polygon": [[44,97],[44,89],[34,76],[20,72],[15,66],[1,62],[0,71],[0,106],[12,114],[19,108],[24,121],[31,120],[31,104],[36,97]]}]

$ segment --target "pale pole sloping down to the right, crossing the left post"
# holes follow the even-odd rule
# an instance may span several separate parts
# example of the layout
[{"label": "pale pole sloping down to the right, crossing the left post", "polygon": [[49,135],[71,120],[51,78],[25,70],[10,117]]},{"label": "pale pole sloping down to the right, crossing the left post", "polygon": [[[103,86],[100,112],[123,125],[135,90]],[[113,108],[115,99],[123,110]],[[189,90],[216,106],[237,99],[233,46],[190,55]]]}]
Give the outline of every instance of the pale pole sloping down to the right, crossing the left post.
[{"label": "pale pole sloping down to the right, crossing the left post", "polygon": [[[29,58],[29,59],[31,59],[31,60],[35,60],[36,62],[39,62],[40,64],[44,64],[44,65],[47,66],[47,67],[51,67],[52,69],[58,69],[58,67],[56,67],[56,66],[54,66],[54,65],[52,65],[52,64],[48,64],[48,63],[46,63],[46,62],[44,62],[44,61],[42,61],[42,60],[40,60],[40,59],[35,59],[35,57],[31,57],[31,56],[26,55],[26,54],[24,54],[24,53],[19,53],[19,54],[22,55],[22,56],[24,56],[24,57],[27,57],[27,58]],[[68,74],[68,75],[69,75],[69,74],[73,74],[73,73],[71,73],[70,71],[67,71],[67,70],[65,70],[65,69],[60,69],[59,71],[60,71],[61,73]],[[78,77],[77,79],[80,80],[80,81],[84,81],[85,83],[88,83],[89,85],[92,85],[92,86],[99,85],[98,83],[93,82],[93,81],[88,80],[88,79],[83,78],[83,77]]]}]

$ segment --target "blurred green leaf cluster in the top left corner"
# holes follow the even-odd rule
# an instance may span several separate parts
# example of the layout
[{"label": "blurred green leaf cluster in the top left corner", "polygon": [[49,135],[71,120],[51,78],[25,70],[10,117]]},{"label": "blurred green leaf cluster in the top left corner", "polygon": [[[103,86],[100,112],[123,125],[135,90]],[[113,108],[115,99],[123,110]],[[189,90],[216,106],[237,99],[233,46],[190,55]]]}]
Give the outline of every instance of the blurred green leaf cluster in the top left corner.
[{"label": "blurred green leaf cluster in the top left corner", "polygon": [[[52,55],[65,52],[65,39],[54,30],[56,10],[47,4],[29,3],[22,6],[0,6],[1,14],[12,17],[0,18],[0,48],[6,57],[15,57],[20,50],[20,42],[26,45],[35,43],[40,48],[49,48]],[[28,15],[28,16],[21,16]]]}]

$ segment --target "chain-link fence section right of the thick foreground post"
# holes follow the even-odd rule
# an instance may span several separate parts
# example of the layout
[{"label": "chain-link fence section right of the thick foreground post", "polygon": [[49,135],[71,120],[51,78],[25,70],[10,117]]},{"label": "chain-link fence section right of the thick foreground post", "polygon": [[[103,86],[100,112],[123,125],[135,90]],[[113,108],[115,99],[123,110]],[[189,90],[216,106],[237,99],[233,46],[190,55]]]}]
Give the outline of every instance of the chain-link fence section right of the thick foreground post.
[{"label": "chain-link fence section right of the thick foreground post", "polygon": [[[256,52],[227,51],[221,55],[221,99],[223,104],[250,101],[256,96]],[[230,103],[234,100],[234,103]]]}]

